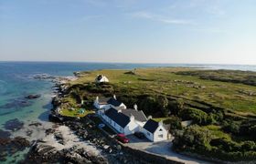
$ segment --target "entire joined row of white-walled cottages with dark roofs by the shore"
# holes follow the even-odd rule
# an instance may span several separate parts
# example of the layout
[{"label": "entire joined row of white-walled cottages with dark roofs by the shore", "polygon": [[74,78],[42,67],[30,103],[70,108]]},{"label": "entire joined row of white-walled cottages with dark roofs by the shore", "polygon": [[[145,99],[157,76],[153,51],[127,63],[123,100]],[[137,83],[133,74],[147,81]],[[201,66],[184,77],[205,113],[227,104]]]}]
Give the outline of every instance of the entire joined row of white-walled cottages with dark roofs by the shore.
[{"label": "entire joined row of white-walled cottages with dark roofs by the shore", "polygon": [[96,97],[94,107],[97,114],[114,128],[124,135],[131,135],[134,132],[143,132],[145,137],[153,142],[162,141],[168,138],[168,128],[163,122],[156,122],[152,117],[146,118],[142,110],[126,108],[126,106],[113,97]]}]

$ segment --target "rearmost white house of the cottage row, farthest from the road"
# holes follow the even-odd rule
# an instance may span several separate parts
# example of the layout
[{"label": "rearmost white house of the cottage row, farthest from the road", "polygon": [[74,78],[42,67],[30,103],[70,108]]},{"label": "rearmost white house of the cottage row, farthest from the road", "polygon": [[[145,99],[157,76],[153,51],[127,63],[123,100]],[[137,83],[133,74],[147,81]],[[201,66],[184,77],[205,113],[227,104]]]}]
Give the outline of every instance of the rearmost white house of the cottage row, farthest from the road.
[{"label": "rearmost white house of the cottage row, farthest from the road", "polygon": [[99,113],[110,108],[126,108],[123,102],[117,100],[115,95],[113,97],[96,97],[93,106],[98,109]]}]

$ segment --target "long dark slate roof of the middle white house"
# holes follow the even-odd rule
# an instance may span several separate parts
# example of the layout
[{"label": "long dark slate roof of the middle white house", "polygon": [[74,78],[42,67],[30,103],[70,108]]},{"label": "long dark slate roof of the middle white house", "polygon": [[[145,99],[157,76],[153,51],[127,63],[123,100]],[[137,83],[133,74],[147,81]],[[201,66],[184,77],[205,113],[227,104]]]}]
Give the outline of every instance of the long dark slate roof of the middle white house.
[{"label": "long dark slate roof of the middle white house", "polygon": [[118,112],[115,108],[110,108],[105,112],[105,115],[111,118],[114,122],[116,122],[122,128],[126,127],[129,122],[130,118],[124,115],[121,112]]}]

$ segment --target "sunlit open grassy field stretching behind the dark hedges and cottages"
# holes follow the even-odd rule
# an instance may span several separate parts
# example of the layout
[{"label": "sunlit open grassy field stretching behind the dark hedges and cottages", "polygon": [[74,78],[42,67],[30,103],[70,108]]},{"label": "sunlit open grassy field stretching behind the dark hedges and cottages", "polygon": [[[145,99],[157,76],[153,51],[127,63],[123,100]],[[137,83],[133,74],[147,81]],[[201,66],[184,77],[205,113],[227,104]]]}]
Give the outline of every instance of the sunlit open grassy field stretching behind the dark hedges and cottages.
[{"label": "sunlit open grassy field stretching behind the dark hedges and cottages", "polygon": [[242,112],[242,115],[256,114],[256,87],[177,74],[190,70],[171,67],[137,68],[133,74],[125,74],[128,70],[96,70],[81,74],[72,84],[91,83],[97,75],[102,74],[110,79],[113,86],[133,93],[184,97]]}]

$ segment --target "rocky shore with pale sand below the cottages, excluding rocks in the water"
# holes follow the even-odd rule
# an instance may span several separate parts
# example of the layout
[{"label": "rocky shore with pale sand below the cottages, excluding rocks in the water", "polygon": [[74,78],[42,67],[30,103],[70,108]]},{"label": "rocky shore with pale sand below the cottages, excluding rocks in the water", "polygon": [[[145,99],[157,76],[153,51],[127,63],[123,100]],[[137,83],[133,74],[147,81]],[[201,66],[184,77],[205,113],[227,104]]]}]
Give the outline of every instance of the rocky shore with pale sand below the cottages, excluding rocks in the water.
[{"label": "rocky shore with pale sand below the cottages, excluding rocks in the water", "polygon": [[20,163],[144,163],[125,154],[118,142],[104,136],[89,118],[69,118],[58,114],[59,99],[68,88],[66,84],[76,77],[36,78],[51,79],[55,83],[57,94],[52,99],[53,109],[48,116],[49,121],[55,124],[46,129],[46,138],[33,143],[26,159]]}]

